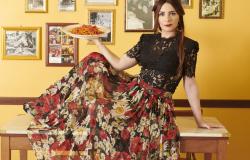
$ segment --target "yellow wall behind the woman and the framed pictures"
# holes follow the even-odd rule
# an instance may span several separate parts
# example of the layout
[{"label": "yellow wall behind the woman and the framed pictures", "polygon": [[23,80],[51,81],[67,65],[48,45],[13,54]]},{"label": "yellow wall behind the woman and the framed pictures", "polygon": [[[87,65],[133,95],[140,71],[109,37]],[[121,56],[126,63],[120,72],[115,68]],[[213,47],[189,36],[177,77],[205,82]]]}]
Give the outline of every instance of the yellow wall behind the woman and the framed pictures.
[{"label": "yellow wall behind the woman and the framed pictures", "polygon": [[[41,60],[0,59],[0,97],[34,97],[40,95],[70,68],[45,66],[45,23],[87,23],[88,9],[115,9],[115,44],[108,45],[117,55],[132,47],[141,33],[124,32],[124,0],[117,6],[85,6],[77,0],[76,12],[59,12],[58,0],[49,0],[48,13],[24,13],[25,0],[0,0],[0,26],[42,27]],[[198,0],[192,9],[186,9],[185,24],[188,36],[199,41],[197,81],[202,99],[250,99],[250,22],[249,0],[225,2],[224,19],[199,19]],[[2,36],[2,33],[0,33]],[[0,49],[2,40],[0,40]],[[96,51],[93,45],[80,41],[79,58]],[[2,50],[0,51],[2,56]],[[130,73],[137,73],[130,69]],[[175,98],[185,98],[183,89],[177,89]],[[250,130],[246,126],[249,109],[205,109],[205,115],[218,117],[232,133],[229,145],[229,160],[246,159]],[[1,106],[0,123],[17,113],[19,106]],[[240,115],[240,116],[238,116]],[[243,125],[241,125],[241,123]],[[244,129],[243,129],[244,127]]]}]

